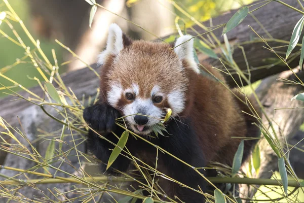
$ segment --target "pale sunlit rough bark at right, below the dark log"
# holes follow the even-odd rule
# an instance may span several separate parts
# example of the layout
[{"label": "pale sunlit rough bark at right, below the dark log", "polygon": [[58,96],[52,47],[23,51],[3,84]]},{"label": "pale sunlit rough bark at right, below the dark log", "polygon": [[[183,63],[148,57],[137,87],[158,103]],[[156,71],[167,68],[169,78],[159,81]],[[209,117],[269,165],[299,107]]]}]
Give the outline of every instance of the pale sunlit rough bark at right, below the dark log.
[{"label": "pale sunlit rough bark at right, below the dark log", "polygon": [[[298,69],[294,69],[293,71],[294,73],[299,72]],[[297,76],[301,80],[304,79],[303,72],[297,73]],[[304,108],[297,108],[303,106],[302,101],[290,101],[294,95],[303,92],[303,87],[301,85],[287,84],[288,82],[283,79],[298,81],[291,71],[285,71],[278,76],[271,76],[264,79],[256,89],[256,92],[267,116],[271,119],[271,124],[274,126],[279,143],[286,149],[285,141],[289,143],[289,140],[292,140],[296,134],[298,134],[298,136],[293,139],[293,144],[296,144],[303,138],[303,133],[300,133],[298,129],[304,121]],[[280,108],[291,109],[275,110]],[[270,123],[265,119],[264,115],[262,120],[265,126],[270,126]],[[272,130],[270,129],[270,131]],[[253,176],[254,178],[271,178],[273,175],[272,171],[276,171],[278,169],[278,156],[266,139],[260,140],[259,149],[262,161],[260,163],[258,174],[254,174]],[[290,152],[293,153],[290,155],[290,162],[292,163],[294,170],[296,172],[301,172],[301,166],[304,161],[299,160],[297,155],[301,152],[298,152],[296,149],[292,149]],[[298,175],[302,175],[302,173]],[[253,187],[248,188],[245,185],[242,186],[241,191],[244,197],[249,198],[251,198],[256,192]]]}]

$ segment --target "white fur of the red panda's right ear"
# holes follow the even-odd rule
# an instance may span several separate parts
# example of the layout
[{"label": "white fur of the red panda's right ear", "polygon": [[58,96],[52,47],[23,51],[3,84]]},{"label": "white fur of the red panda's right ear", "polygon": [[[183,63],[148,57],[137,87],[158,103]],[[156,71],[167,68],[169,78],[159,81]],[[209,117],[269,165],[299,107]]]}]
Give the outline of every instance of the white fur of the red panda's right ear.
[{"label": "white fur of the red panda's right ear", "polygon": [[[191,35],[184,35],[182,37],[179,37],[176,42],[174,47],[175,53],[178,55],[180,60],[186,60],[191,68],[196,72],[200,73],[200,69],[198,67],[198,64],[195,62],[194,59],[194,54],[193,52],[195,51],[193,47],[193,39],[191,39]],[[190,40],[191,39],[191,40]],[[188,41],[189,40],[189,41]],[[187,42],[186,42],[187,41]]]}]

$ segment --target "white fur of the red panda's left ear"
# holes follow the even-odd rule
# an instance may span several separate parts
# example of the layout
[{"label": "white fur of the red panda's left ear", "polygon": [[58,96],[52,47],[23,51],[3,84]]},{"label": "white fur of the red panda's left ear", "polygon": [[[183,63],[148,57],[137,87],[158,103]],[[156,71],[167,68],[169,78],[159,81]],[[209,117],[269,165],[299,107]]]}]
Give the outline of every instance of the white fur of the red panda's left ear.
[{"label": "white fur of the red panda's left ear", "polygon": [[98,55],[97,64],[101,65],[110,54],[117,55],[124,48],[123,31],[115,23],[109,26],[106,49]]}]

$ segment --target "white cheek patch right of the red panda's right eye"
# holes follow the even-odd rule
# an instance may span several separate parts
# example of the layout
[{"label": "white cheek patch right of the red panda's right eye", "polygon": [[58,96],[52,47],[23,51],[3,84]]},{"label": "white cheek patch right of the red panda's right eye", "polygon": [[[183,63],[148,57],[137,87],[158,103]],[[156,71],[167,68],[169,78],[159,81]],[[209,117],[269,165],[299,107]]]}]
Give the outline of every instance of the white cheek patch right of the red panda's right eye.
[{"label": "white cheek patch right of the red panda's right eye", "polygon": [[172,113],[179,114],[185,108],[185,95],[180,90],[174,90],[168,94],[168,103],[172,108]]}]

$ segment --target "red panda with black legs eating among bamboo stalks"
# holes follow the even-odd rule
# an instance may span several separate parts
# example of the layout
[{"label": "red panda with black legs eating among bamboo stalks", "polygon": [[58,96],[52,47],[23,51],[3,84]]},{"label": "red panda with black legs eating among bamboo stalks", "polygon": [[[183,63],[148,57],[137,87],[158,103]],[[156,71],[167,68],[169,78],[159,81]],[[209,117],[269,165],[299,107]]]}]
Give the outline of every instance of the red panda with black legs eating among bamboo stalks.
[{"label": "red panda with black legs eating among bamboo stalks", "polygon": [[[251,112],[220,82],[200,74],[194,51],[189,35],[178,38],[171,46],[132,41],[118,25],[110,25],[106,49],[98,57],[100,98],[84,110],[85,121],[117,143],[111,132],[122,134],[124,129],[115,122],[125,116],[131,131],[194,167],[205,167],[210,161],[232,165],[241,139],[231,137],[257,137],[259,129],[252,124],[256,119],[242,113],[242,110]],[[218,71],[208,65],[206,69],[224,82]],[[244,99],[237,91],[235,94]],[[153,136],[153,126],[160,123],[168,108],[172,109],[172,119],[165,123],[167,132],[164,131],[164,136]],[[245,141],[244,159],[253,144],[254,141]],[[155,146],[130,136],[126,147],[133,156],[155,164]],[[88,149],[106,164],[113,145],[89,130]],[[198,192],[198,187],[205,192],[207,183],[201,175],[166,153],[159,153],[158,160],[161,173],[195,189],[160,180],[166,196],[176,195],[186,203],[203,202],[204,195]],[[126,172],[131,162],[119,155],[107,173],[115,175],[115,169]],[[101,167],[104,172],[105,166]]]}]

